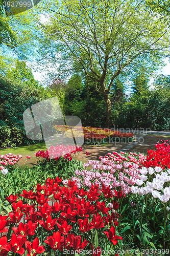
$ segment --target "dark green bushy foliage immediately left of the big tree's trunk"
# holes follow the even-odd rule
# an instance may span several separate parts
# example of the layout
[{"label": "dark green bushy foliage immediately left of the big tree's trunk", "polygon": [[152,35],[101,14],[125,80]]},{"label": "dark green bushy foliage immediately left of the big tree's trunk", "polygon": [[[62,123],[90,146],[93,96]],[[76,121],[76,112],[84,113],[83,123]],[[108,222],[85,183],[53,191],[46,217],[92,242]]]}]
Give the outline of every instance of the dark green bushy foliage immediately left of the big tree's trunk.
[{"label": "dark green bushy foliage immediately left of the big tree's trunk", "polygon": [[76,77],[75,81],[74,78],[68,81],[71,86],[78,80],[77,88],[72,88],[65,95],[66,115],[80,117],[83,126],[105,127],[106,104],[101,93],[94,87],[96,81],[86,77],[83,86],[80,78]]}]

